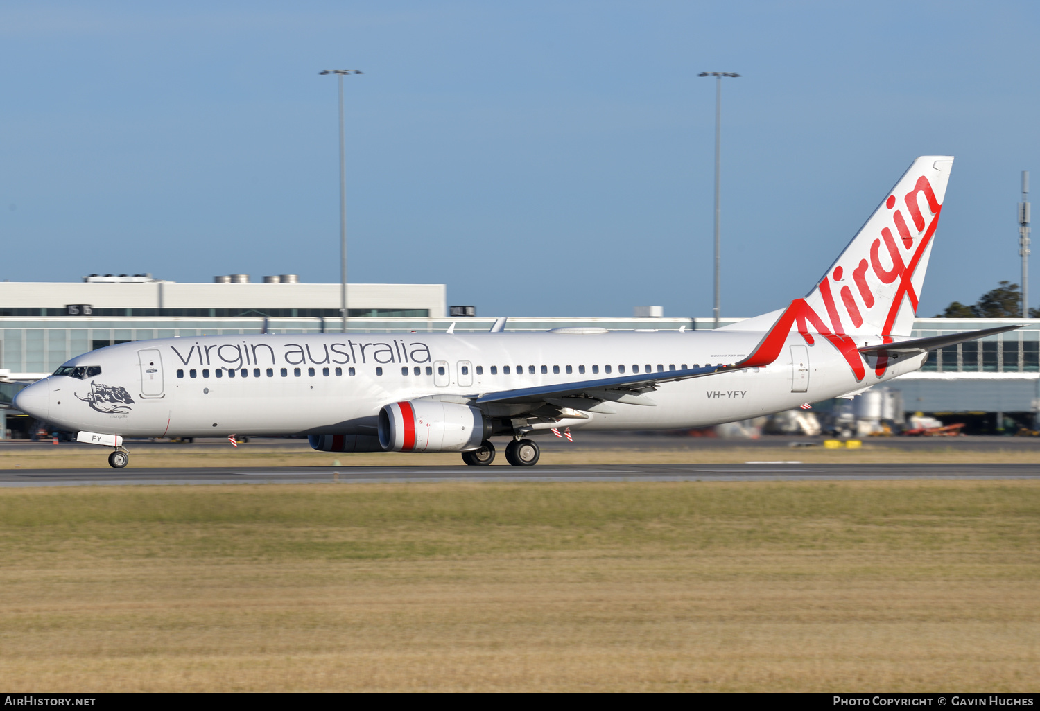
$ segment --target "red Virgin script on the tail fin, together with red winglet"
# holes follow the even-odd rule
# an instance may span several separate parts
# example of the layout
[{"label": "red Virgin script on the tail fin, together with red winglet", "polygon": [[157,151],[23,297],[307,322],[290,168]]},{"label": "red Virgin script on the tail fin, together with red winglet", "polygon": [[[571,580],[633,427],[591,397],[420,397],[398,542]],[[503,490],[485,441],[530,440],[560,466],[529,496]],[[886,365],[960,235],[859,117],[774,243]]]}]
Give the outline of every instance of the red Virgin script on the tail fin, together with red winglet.
[{"label": "red Virgin script on the tail fin, together with red winglet", "polygon": [[[930,215],[926,216],[921,212],[918,202],[920,198],[927,203]],[[869,259],[863,256],[858,262],[839,264],[829,274],[824,275],[809,296],[791,301],[755,351],[740,365],[765,366],[773,363],[780,354],[792,327],[797,327],[805,342],[812,345],[814,338],[810,333],[811,327],[812,332],[830,341],[841,352],[857,380],[865,377],[863,358],[856,349],[856,339],[848,335],[847,324],[853,332],[859,330],[866,321],[870,324],[880,324],[883,341],[891,343],[892,326],[903,300],[909,299],[913,313],[917,313],[917,293],[912,280],[931,244],[939,223],[939,213],[942,211],[932,184],[925,176],[919,177],[913,189],[903,196],[910,221],[907,220],[902,208],[895,209],[896,202],[895,195],[889,195],[885,201],[891,222],[882,228],[880,234],[870,242]],[[892,228],[895,230],[894,233]],[[860,257],[858,253],[862,249],[855,247],[865,246],[861,242],[864,236],[861,235],[850,245],[839,262]],[[850,272],[851,283],[847,279]],[[895,290],[891,298],[888,298],[890,288],[885,287],[892,284],[895,285]],[[810,306],[810,300],[823,301],[826,320]],[[878,310],[878,313],[874,313],[875,310]],[[883,319],[881,310],[887,310]],[[888,359],[880,358],[875,369],[877,375],[884,374],[887,367]]]}]

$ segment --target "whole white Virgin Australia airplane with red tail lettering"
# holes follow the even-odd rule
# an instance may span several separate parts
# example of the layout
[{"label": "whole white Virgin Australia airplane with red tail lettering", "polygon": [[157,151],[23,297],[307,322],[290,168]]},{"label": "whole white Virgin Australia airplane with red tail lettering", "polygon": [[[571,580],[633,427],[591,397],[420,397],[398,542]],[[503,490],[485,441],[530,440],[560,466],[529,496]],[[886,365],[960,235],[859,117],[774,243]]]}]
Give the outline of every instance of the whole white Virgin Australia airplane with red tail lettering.
[{"label": "whole white Virgin Australia airplane with red tail lettering", "polygon": [[917,370],[1011,331],[909,338],[952,156],[922,156],[804,298],[713,331],[236,335],[136,341],[70,360],[15,406],[129,462],[124,438],[306,436],[328,452],[461,452],[538,463],[555,429],[701,427]]}]

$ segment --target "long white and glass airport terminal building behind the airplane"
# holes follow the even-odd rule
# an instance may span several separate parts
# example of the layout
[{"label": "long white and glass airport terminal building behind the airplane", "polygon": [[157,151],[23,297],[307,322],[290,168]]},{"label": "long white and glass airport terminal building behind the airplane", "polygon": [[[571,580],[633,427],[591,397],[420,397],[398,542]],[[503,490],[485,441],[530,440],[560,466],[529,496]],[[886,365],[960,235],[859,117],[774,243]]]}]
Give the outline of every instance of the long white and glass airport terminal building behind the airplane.
[{"label": "long white and glass airport terminal building behind the airplane", "polygon": [[[350,333],[488,331],[494,317],[447,307],[443,284],[352,284]],[[84,276],[76,283],[0,283],[0,438],[26,436],[27,418],[10,409],[19,384],[38,379],[75,356],[114,343],[218,334],[339,332],[340,285],[305,284],[293,274],[252,283],[243,274],[211,284],[179,284],[149,274]],[[452,316],[451,313],[458,315]],[[710,318],[511,317],[506,331],[565,326],[608,330],[701,330]],[[503,314],[509,316],[509,314]],[[722,319],[722,324],[743,319]],[[891,380],[908,412],[1013,416],[1033,424],[1040,413],[1040,319],[917,319],[922,338],[1002,324],[1024,327],[943,348],[925,367]],[[1000,414],[1000,415],[997,415]]]}]

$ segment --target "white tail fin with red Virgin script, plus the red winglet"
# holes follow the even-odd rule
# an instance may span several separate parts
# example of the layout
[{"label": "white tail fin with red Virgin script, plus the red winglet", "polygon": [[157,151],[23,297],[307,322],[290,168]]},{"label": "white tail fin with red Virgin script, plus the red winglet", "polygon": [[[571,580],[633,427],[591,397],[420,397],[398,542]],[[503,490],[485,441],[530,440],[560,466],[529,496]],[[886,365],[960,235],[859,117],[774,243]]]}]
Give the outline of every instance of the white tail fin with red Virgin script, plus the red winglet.
[{"label": "white tail fin with red Virgin script, plus the red winglet", "polygon": [[[904,299],[910,304],[909,321],[904,318],[900,330],[907,333],[898,335],[909,335],[952,160],[944,156],[918,158],[816,288],[805,298],[791,301],[744,365],[773,363],[791,328],[797,328],[809,345],[814,343],[812,333],[830,341],[842,353],[856,379],[862,380],[866,373],[863,358],[856,350],[857,340],[880,336],[884,342],[891,342]],[[920,163],[932,169],[915,169]],[[931,173],[933,180],[939,180],[938,189],[922,173]],[[903,192],[907,187],[910,189]],[[896,208],[898,195],[905,212],[904,207]],[[826,314],[826,319],[822,314]],[[850,332],[859,334],[859,338],[853,338]],[[887,360],[881,359],[877,374],[883,374],[887,366]]]}]

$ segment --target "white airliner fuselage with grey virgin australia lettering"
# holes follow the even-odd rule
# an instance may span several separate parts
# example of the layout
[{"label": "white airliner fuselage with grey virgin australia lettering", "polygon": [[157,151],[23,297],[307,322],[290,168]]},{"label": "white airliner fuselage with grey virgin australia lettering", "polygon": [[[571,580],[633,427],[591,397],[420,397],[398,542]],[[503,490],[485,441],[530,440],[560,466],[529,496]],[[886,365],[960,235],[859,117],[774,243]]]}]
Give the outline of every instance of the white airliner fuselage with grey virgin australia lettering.
[{"label": "white airliner fuselage with grey virgin australia lettering", "polygon": [[[761,332],[241,335],[137,341],[79,356],[19,403],[58,428],[124,437],[372,434],[380,409],[632,373],[734,364]],[[794,346],[798,350],[792,350]],[[805,350],[800,350],[800,349]],[[806,353],[800,363],[798,353]],[[804,360],[804,357],[803,359]],[[610,403],[582,429],[672,429],[768,415],[875,385],[924,356],[857,380],[826,340],[791,333],[768,367],[662,383],[652,405]],[[99,369],[96,374],[90,369]],[[80,369],[80,370],[76,370]],[[406,374],[407,373],[407,374]],[[490,405],[508,417],[521,405]],[[530,407],[527,407],[530,410]]]}]

